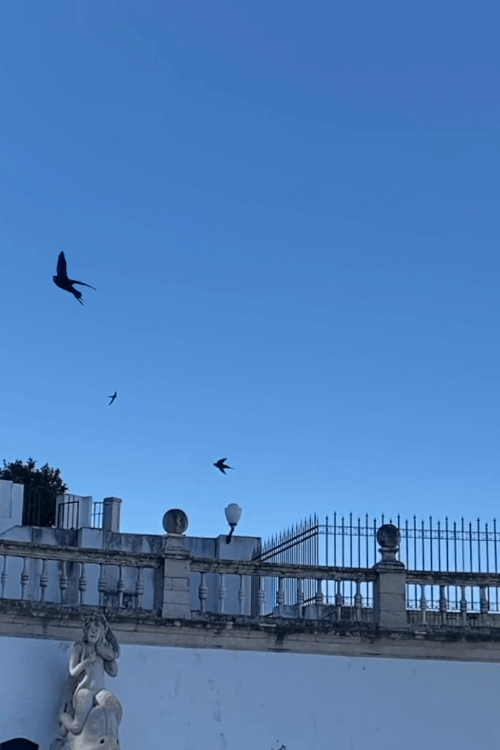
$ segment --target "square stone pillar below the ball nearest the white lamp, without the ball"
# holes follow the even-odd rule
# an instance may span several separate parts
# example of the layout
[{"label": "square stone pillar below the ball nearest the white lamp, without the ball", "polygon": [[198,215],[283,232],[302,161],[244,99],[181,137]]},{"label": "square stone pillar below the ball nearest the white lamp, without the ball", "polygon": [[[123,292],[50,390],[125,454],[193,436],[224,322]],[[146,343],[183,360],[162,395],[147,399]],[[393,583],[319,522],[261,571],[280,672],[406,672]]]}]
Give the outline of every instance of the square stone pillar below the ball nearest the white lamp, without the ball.
[{"label": "square stone pillar below the ball nearest the white lamp, without the ball", "polygon": [[161,616],[190,618],[190,552],[185,537],[169,534],[163,545]]}]

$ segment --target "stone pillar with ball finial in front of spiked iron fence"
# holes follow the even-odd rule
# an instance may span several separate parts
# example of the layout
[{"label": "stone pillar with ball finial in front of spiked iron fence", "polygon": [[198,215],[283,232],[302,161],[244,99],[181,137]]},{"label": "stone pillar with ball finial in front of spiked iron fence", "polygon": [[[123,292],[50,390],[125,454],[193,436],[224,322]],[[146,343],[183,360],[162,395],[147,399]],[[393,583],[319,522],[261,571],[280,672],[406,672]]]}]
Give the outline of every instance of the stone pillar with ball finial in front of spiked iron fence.
[{"label": "stone pillar with ball finial in front of spiked iron fence", "polygon": [[399,529],[385,523],[377,532],[382,560],[373,565],[377,577],[373,583],[373,622],[381,628],[407,628],[406,569],[396,559],[400,547]]}]

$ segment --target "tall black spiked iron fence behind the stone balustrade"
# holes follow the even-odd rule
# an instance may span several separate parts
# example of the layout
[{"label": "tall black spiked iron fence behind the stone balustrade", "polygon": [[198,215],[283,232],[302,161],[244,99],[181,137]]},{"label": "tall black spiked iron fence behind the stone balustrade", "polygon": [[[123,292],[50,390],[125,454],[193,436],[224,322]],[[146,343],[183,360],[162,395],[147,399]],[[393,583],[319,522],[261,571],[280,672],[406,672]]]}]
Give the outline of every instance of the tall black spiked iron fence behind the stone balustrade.
[{"label": "tall black spiked iron fence behind the stone balustrade", "polygon": [[[397,559],[404,562],[407,570],[436,572],[470,572],[498,573],[500,562],[500,531],[493,523],[482,523],[478,518],[474,523],[460,521],[418,520],[414,515],[411,520],[402,520],[400,515],[393,521],[382,514],[379,519],[365,514],[364,517],[340,516],[334,513],[321,523],[316,514],[301,521],[291,529],[274,535],[262,544],[262,549],[255,559],[262,562],[289,562],[300,565],[332,565],[335,567],[371,568],[379,561],[379,544],[376,540],[377,530],[384,523],[394,523],[400,529],[401,542]],[[266,601],[275,601],[278,587],[277,578],[266,578]],[[334,603],[342,596],[346,605],[354,605],[356,590],[352,582],[346,581],[331,590],[333,586],[325,583],[325,602]],[[361,585],[363,602],[371,603],[371,587]],[[438,606],[437,590],[430,589],[428,606]],[[472,596],[474,598],[474,593]],[[493,593],[493,592],[492,592]],[[295,601],[295,589],[292,582],[285,583],[285,604]],[[304,603],[313,602],[316,595],[316,582],[304,581]],[[420,596],[416,586],[409,586],[408,598],[412,607]],[[496,600],[498,590],[493,593]],[[477,603],[479,596],[476,597]],[[454,607],[460,607],[460,592],[451,592]],[[473,602],[475,604],[476,602]],[[498,611],[498,604],[496,610]]]}]

